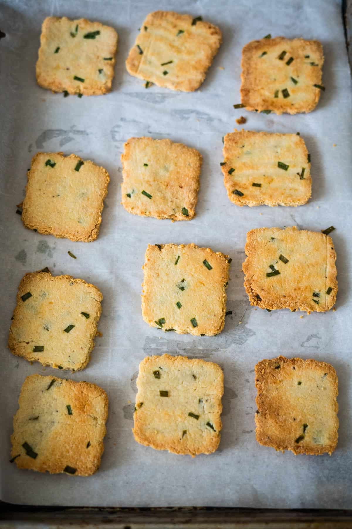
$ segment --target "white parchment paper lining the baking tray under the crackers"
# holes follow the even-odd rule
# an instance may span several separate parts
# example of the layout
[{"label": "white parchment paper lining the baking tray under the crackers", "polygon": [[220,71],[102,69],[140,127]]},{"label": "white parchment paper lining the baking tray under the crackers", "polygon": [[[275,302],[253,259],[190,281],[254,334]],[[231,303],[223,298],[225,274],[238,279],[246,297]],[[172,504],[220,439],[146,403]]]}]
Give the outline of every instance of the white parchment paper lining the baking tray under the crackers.
[{"label": "white parchment paper lining the baking tray under the crackers", "polygon": [[[13,503],[72,506],[239,506],[351,508],[351,84],[341,5],[337,1],[5,1],[1,52],[1,499]],[[125,59],[147,13],[175,10],[202,15],[220,26],[223,44],[195,93],[177,93],[128,75]],[[119,34],[116,77],[106,96],[63,98],[37,86],[35,62],[45,16],[85,17]],[[303,36],[324,45],[324,85],[318,107],[296,116],[234,111],[240,102],[241,50],[267,33]],[[312,199],[297,208],[236,207],[227,198],[219,162],[222,136],[239,128],[297,132],[311,153]],[[170,138],[204,158],[201,189],[191,222],[160,221],[127,213],[120,205],[123,143],[131,136]],[[26,170],[37,151],[76,153],[105,167],[111,181],[100,235],[92,243],[55,239],[24,228],[15,214]],[[297,225],[320,231],[334,224],[339,292],[336,312],[262,311],[243,288],[246,232]],[[229,254],[224,331],[214,338],[164,334],[141,317],[141,266],[148,243],[189,243]],[[77,260],[68,255],[71,250]],[[49,267],[97,285],[103,311],[91,362],[69,373],[31,365],[6,348],[17,286],[25,272]],[[211,359],[224,369],[223,431],[219,450],[195,459],[141,446],[133,439],[132,412],[138,364],[148,354]],[[278,354],[332,363],[339,377],[339,442],[329,457],[276,453],[255,441],[254,365]],[[9,464],[12,416],[27,375],[87,380],[109,395],[101,468],[89,478],[50,476]]]}]

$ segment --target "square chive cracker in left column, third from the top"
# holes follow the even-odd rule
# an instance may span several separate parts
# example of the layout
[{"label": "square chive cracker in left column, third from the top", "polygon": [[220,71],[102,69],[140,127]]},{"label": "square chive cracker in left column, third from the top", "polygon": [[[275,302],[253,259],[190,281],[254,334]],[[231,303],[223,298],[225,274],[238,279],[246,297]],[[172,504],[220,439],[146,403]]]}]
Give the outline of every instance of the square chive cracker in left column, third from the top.
[{"label": "square chive cracker in left column, third from the top", "polygon": [[94,348],[102,298],[98,288],[83,279],[26,273],[18,287],[9,349],[43,366],[83,369]]}]

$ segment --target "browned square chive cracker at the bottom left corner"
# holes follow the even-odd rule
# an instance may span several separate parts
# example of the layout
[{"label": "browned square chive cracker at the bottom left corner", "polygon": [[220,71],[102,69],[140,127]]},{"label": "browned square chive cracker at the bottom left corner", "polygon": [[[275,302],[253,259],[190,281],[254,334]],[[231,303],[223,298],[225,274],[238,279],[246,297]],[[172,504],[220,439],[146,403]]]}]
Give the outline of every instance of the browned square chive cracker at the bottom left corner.
[{"label": "browned square chive cracker at the bottom left corner", "polygon": [[89,382],[31,375],[14,416],[11,457],[18,468],[90,476],[100,465],[108,397]]}]

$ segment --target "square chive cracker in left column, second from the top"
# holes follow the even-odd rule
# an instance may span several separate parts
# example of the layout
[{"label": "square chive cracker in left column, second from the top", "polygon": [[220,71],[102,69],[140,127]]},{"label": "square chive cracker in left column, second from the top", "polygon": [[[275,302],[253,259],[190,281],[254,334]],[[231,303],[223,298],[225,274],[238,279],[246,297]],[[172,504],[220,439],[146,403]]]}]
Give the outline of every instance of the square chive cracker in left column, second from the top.
[{"label": "square chive cracker in left column, second from the top", "polygon": [[30,230],[71,241],[97,239],[109,174],[75,154],[38,152],[27,172],[22,221]]}]

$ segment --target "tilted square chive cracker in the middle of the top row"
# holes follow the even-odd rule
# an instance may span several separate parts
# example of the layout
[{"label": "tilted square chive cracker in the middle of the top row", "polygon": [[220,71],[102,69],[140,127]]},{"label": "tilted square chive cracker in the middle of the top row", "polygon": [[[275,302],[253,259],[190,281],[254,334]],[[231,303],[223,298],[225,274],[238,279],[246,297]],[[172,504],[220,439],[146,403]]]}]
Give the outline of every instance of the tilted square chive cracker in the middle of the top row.
[{"label": "tilted square chive cracker in the middle of the top row", "polygon": [[221,44],[213,24],[173,11],[149,13],[126,60],[129,74],[158,86],[193,92]]}]

